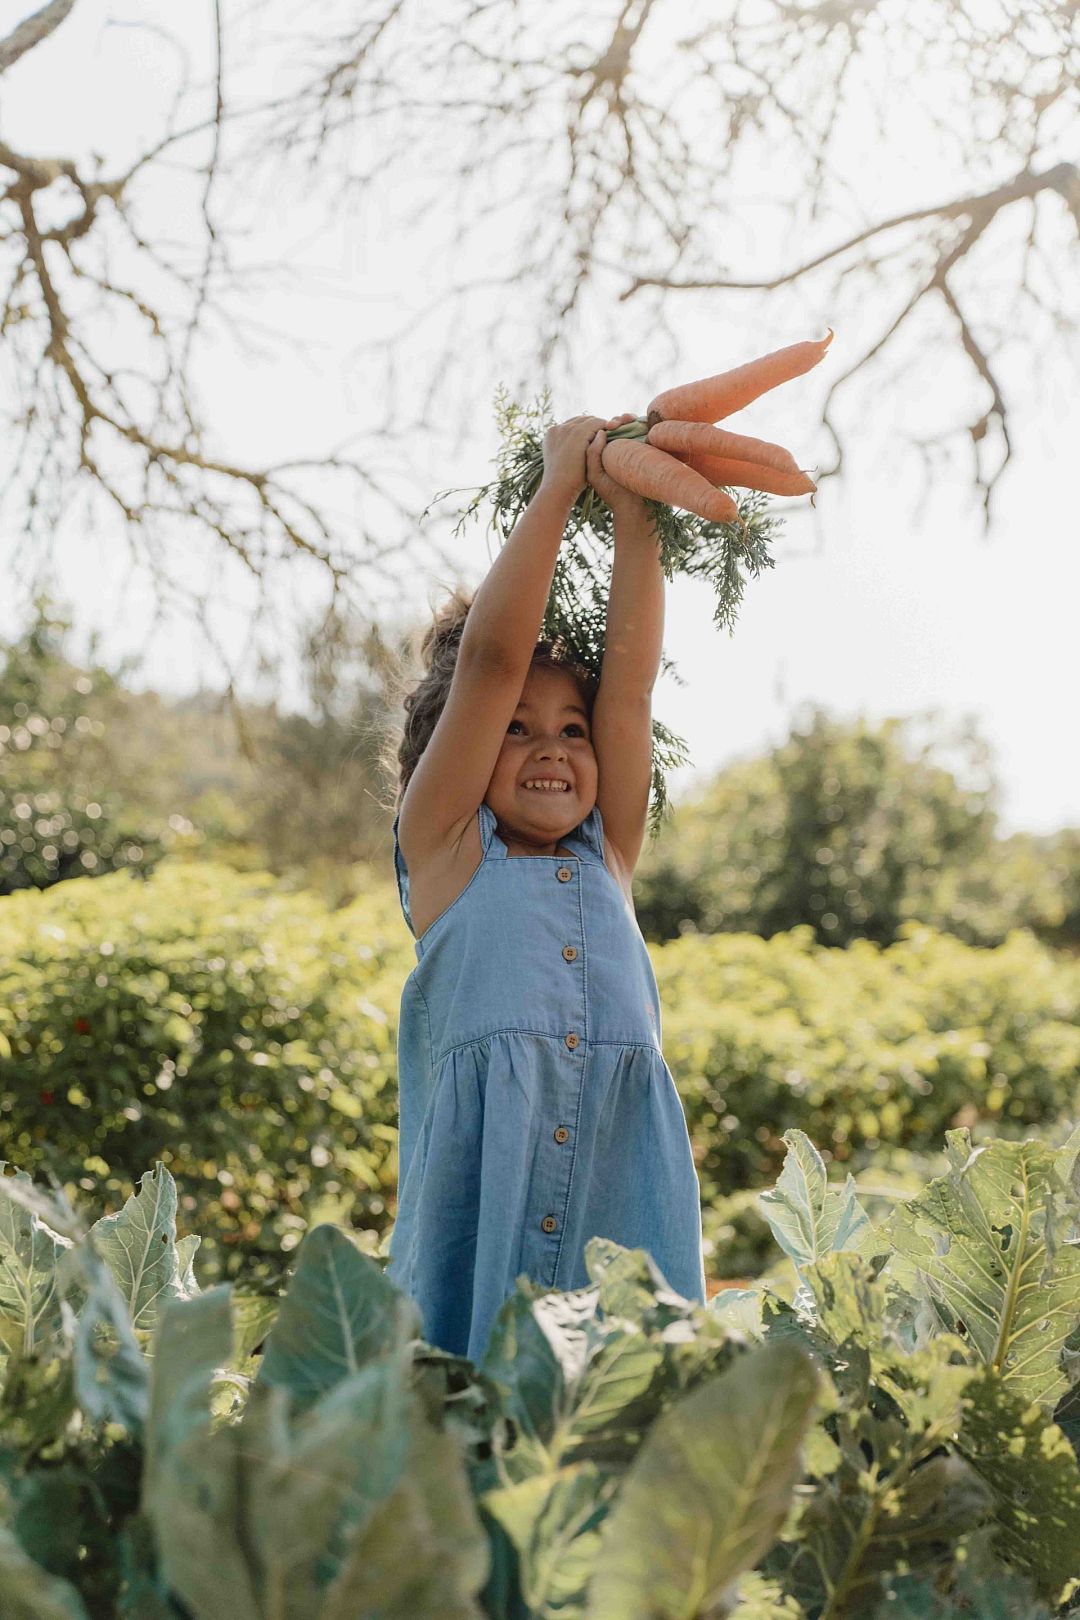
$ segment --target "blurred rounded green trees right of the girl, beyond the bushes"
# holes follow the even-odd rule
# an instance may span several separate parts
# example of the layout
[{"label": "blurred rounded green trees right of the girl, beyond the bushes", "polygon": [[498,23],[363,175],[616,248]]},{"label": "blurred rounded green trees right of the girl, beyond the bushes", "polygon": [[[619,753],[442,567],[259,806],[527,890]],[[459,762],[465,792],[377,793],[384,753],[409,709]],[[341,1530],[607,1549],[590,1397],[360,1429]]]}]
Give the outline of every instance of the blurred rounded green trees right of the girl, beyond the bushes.
[{"label": "blurred rounded green trees right of the girl, beyond the bushes", "polygon": [[887,944],[918,920],[972,944],[1015,927],[1080,943],[1080,833],[1001,838],[989,748],[972,724],[811,710],[780,747],[675,808],[635,899],[649,940],[810,923],[824,944]]}]

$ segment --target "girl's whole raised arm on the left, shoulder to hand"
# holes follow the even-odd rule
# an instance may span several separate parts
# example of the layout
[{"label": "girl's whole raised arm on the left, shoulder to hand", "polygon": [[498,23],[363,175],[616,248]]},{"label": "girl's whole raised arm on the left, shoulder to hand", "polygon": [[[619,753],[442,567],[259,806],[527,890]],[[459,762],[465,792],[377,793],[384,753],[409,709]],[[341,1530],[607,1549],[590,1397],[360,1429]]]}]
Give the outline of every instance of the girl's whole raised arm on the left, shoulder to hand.
[{"label": "girl's whole raised arm on the left, shoulder to hand", "polygon": [[544,622],[585,452],[604,423],[573,416],[544,436],[544,476],[473,598],[445,708],[402,800],[406,863],[457,842],[483,804]]}]

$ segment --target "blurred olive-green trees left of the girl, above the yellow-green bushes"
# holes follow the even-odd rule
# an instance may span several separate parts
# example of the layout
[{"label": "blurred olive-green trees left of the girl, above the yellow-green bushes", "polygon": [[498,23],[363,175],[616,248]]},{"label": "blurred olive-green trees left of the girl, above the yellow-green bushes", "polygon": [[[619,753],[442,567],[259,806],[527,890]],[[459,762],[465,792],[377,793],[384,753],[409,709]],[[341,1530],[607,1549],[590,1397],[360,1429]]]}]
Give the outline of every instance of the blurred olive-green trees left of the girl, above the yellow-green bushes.
[{"label": "blurred olive-green trees left of the girl, above the yellow-green bushes", "polygon": [[230,690],[134,690],[128,666],[71,663],[70,632],[40,599],[26,633],[0,645],[0,893],[149,872],[165,852],[355,893],[348,870],[379,860],[389,828],[377,632],[345,616],[311,627],[296,713]]}]

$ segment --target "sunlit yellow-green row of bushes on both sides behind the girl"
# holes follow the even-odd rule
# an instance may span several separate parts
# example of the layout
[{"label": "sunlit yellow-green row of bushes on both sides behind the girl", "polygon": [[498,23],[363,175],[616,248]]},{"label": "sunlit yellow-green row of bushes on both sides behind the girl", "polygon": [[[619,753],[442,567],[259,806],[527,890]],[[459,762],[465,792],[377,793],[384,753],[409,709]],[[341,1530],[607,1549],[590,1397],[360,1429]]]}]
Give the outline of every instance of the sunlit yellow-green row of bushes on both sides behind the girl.
[{"label": "sunlit yellow-green row of bushes on both sides behind the girl", "polygon": [[[908,928],[829,949],[808,928],[651,946],[714,1275],[756,1270],[748,1194],[806,1131],[857,1173],[920,1170],[946,1129],[1075,1116],[1080,962],[1030,935],[976,949]],[[165,860],[0,901],[5,1157],[120,1200],[160,1158],[202,1277],[280,1270],[316,1209],[374,1252],[397,1186],[397,1013],[415,961],[381,885],[327,910],[261,873]]]}]

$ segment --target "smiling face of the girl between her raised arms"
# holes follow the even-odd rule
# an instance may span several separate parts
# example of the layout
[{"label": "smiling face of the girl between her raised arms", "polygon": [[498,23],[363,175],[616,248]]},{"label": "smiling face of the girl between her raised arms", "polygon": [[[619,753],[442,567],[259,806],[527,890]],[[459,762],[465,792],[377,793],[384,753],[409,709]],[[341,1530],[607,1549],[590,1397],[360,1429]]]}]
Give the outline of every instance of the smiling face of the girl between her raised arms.
[{"label": "smiling face of the girl between her raised arms", "polygon": [[[567,787],[526,787],[557,778]],[[486,800],[523,842],[557,842],[596,804],[596,755],[573,676],[533,664],[507,726]]]}]

